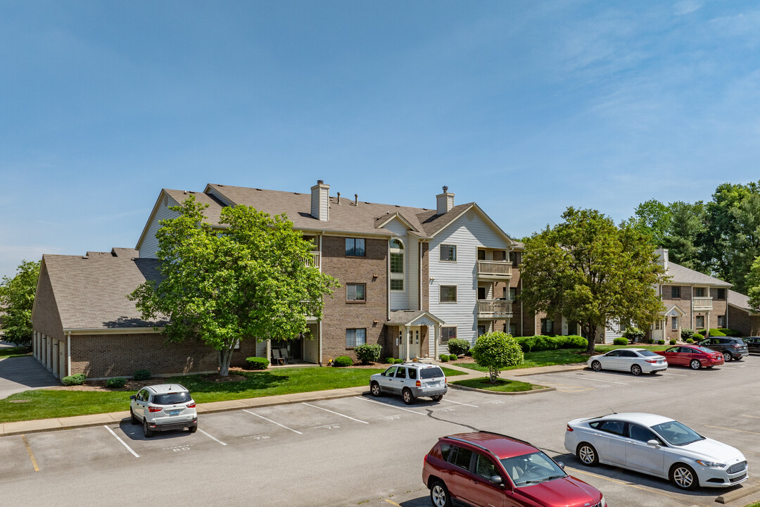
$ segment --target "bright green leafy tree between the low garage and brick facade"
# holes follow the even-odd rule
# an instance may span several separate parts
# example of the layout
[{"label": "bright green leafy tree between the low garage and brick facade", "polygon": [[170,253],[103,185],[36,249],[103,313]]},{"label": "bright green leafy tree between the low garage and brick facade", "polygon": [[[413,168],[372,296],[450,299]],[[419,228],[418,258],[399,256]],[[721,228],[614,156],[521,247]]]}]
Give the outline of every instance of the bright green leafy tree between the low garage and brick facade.
[{"label": "bright green leafy tree between the low garage and brick facade", "polygon": [[323,296],[337,280],[306,262],[312,244],[287,217],[244,205],[204,220],[205,204],[190,196],[162,220],[157,258],[163,280],[149,280],[127,297],[143,318],[166,318],[169,341],[197,338],[219,351],[227,375],[238,341],[293,339],[306,315],[321,318]]}]

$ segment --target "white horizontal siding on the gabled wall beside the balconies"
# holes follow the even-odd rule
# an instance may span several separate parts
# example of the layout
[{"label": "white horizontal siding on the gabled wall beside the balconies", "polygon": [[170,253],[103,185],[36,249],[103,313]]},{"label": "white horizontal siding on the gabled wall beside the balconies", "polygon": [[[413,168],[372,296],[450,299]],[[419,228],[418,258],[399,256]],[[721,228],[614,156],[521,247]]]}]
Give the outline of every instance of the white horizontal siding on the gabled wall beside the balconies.
[{"label": "white horizontal siding on the gabled wall beside the balconies", "polygon": [[[441,261],[440,246],[455,245],[457,261]],[[507,242],[496,233],[481,217],[475,213],[473,220],[466,215],[450,223],[438,233],[429,244],[429,309],[446,324],[457,327],[457,337],[474,343],[477,338],[477,249],[508,249]],[[457,286],[457,303],[441,303],[440,287]],[[431,329],[432,334],[432,329]],[[429,355],[435,351],[434,341],[429,340]],[[443,351],[440,350],[439,353]]]}]

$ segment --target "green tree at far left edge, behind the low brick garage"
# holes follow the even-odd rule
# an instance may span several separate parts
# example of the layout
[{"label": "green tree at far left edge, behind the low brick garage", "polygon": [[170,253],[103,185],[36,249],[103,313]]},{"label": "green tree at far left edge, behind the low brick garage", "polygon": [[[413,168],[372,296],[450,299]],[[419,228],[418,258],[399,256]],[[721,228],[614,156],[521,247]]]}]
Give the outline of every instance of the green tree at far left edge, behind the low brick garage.
[{"label": "green tree at far left edge, behind the low brick garage", "polygon": [[40,277],[40,261],[21,261],[16,276],[3,277],[0,284],[0,309],[3,339],[17,345],[32,343],[32,306]]}]

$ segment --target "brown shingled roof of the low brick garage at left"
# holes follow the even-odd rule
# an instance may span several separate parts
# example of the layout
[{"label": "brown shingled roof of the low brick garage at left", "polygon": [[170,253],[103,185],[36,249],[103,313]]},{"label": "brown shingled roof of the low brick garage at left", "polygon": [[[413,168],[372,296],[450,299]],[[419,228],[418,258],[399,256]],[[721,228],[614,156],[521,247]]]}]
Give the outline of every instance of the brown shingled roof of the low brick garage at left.
[{"label": "brown shingled roof of the low brick garage at left", "polygon": [[125,297],[145,280],[160,280],[157,259],[93,253],[43,255],[64,331],[166,325],[165,320],[144,321]]}]

